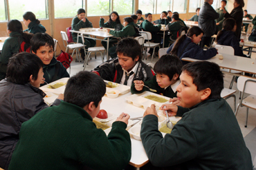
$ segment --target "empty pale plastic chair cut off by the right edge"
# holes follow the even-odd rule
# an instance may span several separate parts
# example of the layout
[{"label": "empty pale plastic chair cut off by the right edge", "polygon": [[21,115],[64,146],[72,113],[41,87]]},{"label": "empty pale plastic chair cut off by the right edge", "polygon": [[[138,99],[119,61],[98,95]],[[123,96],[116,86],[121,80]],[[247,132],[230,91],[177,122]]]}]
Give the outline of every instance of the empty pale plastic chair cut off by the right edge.
[{"label": "empty pale plastic chair cut off by the right edge", "polygon": [[[235,116],[237,116],[237,112],[239,107],[247,107],[246,108],[246,125],[244,127],[247,127],[248,122],[248,111],[249,107],[251,109],[256,109],[256,78],[251,78],[248,76],[239,76],[237,79],[237,89],[239,89],[241,94],[241,100],[239,104],[237,105],[237,110],[235,111]],[[246,98],[244,98],[244,94],[250,94]]]}]

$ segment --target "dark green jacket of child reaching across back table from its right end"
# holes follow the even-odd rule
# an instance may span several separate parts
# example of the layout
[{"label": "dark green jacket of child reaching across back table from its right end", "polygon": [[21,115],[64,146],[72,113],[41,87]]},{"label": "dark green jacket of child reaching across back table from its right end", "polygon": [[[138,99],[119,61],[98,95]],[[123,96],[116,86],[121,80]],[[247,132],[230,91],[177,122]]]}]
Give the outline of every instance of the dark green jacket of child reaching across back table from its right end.
[{"label": "dark green jacket of child reaching across back table from its right end", "polygon": [[125,28],[122,28],[120,31],[113,31],[110,30],[109,34],[116,36],[116,37],[127,37],[127,36],[135,36],[136,32],[134,29],[134,22],[128,23],[128,25]]}]

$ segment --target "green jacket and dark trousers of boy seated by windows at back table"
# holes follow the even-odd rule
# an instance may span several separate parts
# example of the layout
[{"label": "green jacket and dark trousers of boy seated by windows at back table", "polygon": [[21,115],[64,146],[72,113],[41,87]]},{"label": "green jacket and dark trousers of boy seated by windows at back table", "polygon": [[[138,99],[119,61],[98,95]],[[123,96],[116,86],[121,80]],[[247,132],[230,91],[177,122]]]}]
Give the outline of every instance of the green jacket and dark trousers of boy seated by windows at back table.
[{"label": "green jacket and dark trousers of boy seated by windows at back table", "polygon": [[[93,28],[93,24],[88,19],[86,19],[86,21],[84,22],[84,21],[78,19],[78,17],[75,17],[72,20],[71,27],[72,27],[72,30],[78,31],[80,28]],[[77,42],[77,33],[72,32],[71,34],[73,37],[73,41],[76,43]],[[86,37],[86,36],[84,36],[84,37]],[[78,43],[82,43],[81,37],[79,37]],[[86,45],[85,46],[86,49],[89,47],[94,47],[96,45],[96,41],[93,39],[84,38],[84,45]]]}]

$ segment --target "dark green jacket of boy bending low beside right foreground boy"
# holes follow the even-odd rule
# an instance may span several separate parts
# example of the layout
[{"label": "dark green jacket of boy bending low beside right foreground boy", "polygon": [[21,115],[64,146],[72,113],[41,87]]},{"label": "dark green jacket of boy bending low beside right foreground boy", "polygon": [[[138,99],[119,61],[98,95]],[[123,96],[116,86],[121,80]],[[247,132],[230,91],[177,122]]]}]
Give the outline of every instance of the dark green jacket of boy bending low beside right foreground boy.
[{"label": "dark green jacket of boy bending low beside right foreground boy", "polygon": [[[158,83],[156,82],[156,76],[154,76],[150,81],[145,81],[144,84],[147,85],[148,87],[152,88],[152,89],[156,89],[156,91],[157,91],[156,94],[163,94],[163,96],[167,96],[169,98],[174,98],[174,97],[177,96],[177,92],[174,93],[171,86],[167,87],[166,89],[161,88],[158,85]],[[132,85],[131,85],[131,94],[141,94],[145,91],[151,92],[147,87],[143,87],[143,90],[137,91],[135,89],[134,83],[132,83]]]}]

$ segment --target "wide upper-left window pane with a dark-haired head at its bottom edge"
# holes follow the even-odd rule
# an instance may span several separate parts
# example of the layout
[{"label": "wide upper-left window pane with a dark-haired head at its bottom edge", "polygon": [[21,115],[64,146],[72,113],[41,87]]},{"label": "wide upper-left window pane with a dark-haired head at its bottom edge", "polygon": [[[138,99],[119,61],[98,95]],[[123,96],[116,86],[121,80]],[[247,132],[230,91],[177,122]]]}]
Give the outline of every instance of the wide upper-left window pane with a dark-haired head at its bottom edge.
[{"label": "wide upper-left window pane with a dark-haired head at its bottom edge", "polygon": [[25,12],[33,12],[37,19],[47,19],[46,1],[37,0],[9,0],[10,19],[22,20]]}]

